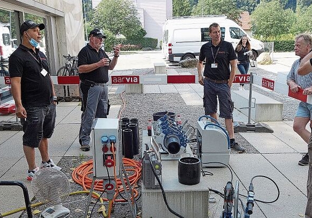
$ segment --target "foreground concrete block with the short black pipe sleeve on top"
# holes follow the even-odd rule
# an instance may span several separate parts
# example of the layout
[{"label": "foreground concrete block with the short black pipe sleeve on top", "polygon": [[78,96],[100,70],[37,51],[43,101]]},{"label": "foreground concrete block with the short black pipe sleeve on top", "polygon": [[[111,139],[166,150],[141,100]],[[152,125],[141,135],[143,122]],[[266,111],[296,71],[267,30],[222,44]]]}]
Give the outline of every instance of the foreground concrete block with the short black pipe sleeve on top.
[{"label": "foreground concrete block with the short black pipe sleeve on top", "polygon": [[[185,218],[207,218],[209,188],[208,181],[201,177],[196,185],[178,182],[178,161],[162,161],[162,185],[169,206]],[[142,217],[171,218],[160,189],[146,189],[142,183]]]}]

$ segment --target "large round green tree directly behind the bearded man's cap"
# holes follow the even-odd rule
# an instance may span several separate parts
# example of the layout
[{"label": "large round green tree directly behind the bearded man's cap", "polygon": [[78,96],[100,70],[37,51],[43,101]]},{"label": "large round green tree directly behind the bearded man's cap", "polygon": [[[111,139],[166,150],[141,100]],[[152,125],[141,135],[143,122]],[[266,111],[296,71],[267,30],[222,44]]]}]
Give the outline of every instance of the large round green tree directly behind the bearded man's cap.
[{"label": "large round green tree directly behind the bearded man's cap", "polygon": [[129,0],[102,0],[95,9],[92,23],[98,29],[126,37],[136,34],[142,28],[137,9],[133,1]]}]

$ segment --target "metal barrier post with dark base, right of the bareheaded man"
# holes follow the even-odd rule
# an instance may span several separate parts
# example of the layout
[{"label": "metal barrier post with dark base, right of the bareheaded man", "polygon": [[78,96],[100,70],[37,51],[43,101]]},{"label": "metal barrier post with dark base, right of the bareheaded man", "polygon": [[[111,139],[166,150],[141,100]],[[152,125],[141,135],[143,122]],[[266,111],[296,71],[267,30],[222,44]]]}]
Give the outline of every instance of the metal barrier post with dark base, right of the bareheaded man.
[{"label": "metal barrier post with dark base, right of the bareheaded man", "polygon": [[[252,116],[252,95],[253,95],[253,72],[250,73],[250,81],[249,81],[249,101],[248,101],[248,123],[237,122],[233,123],[234,132],[269,132],[273,133],[273,129],[264,123],[251,123]],[[255,101],[255,99],[254,99]],[[247,108],[242,108],[247,109]]]}]

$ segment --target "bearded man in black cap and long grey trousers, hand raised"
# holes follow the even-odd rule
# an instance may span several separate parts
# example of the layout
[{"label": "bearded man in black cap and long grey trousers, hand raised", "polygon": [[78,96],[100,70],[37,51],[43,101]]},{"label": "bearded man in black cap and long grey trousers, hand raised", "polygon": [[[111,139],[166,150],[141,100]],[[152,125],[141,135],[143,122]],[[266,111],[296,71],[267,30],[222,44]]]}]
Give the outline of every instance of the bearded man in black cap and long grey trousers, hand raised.
[{"label": "bearded man in black cap and long grey trousers, hand raised", "polygon": [[106,118],[108,108],[108,70],[113,70],[119,57],[119,48],[114,48],[112,60],[101,49],[106,38],[98,29],[89,34],[89,43],[78,54],[78,72],[82,92],[80,149],[90,150],[90,133],[94,118]]}]

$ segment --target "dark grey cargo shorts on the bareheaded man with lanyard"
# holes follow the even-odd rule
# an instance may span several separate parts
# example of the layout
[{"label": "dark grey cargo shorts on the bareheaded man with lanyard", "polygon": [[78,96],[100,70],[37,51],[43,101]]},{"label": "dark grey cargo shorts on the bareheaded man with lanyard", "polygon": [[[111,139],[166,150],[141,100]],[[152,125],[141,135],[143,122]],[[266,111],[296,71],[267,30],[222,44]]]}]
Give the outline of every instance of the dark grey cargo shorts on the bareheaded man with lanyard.
[{"label": "dark grey cargo shorts on the bareheaded man with lanyard", "polygon": [[234,103],[231,99],[231,88],[228,83],[214,83],[204,79],[204,108],[205,115],[217,112],[217,98],[219,99],[219,117],[233,118]]}]

